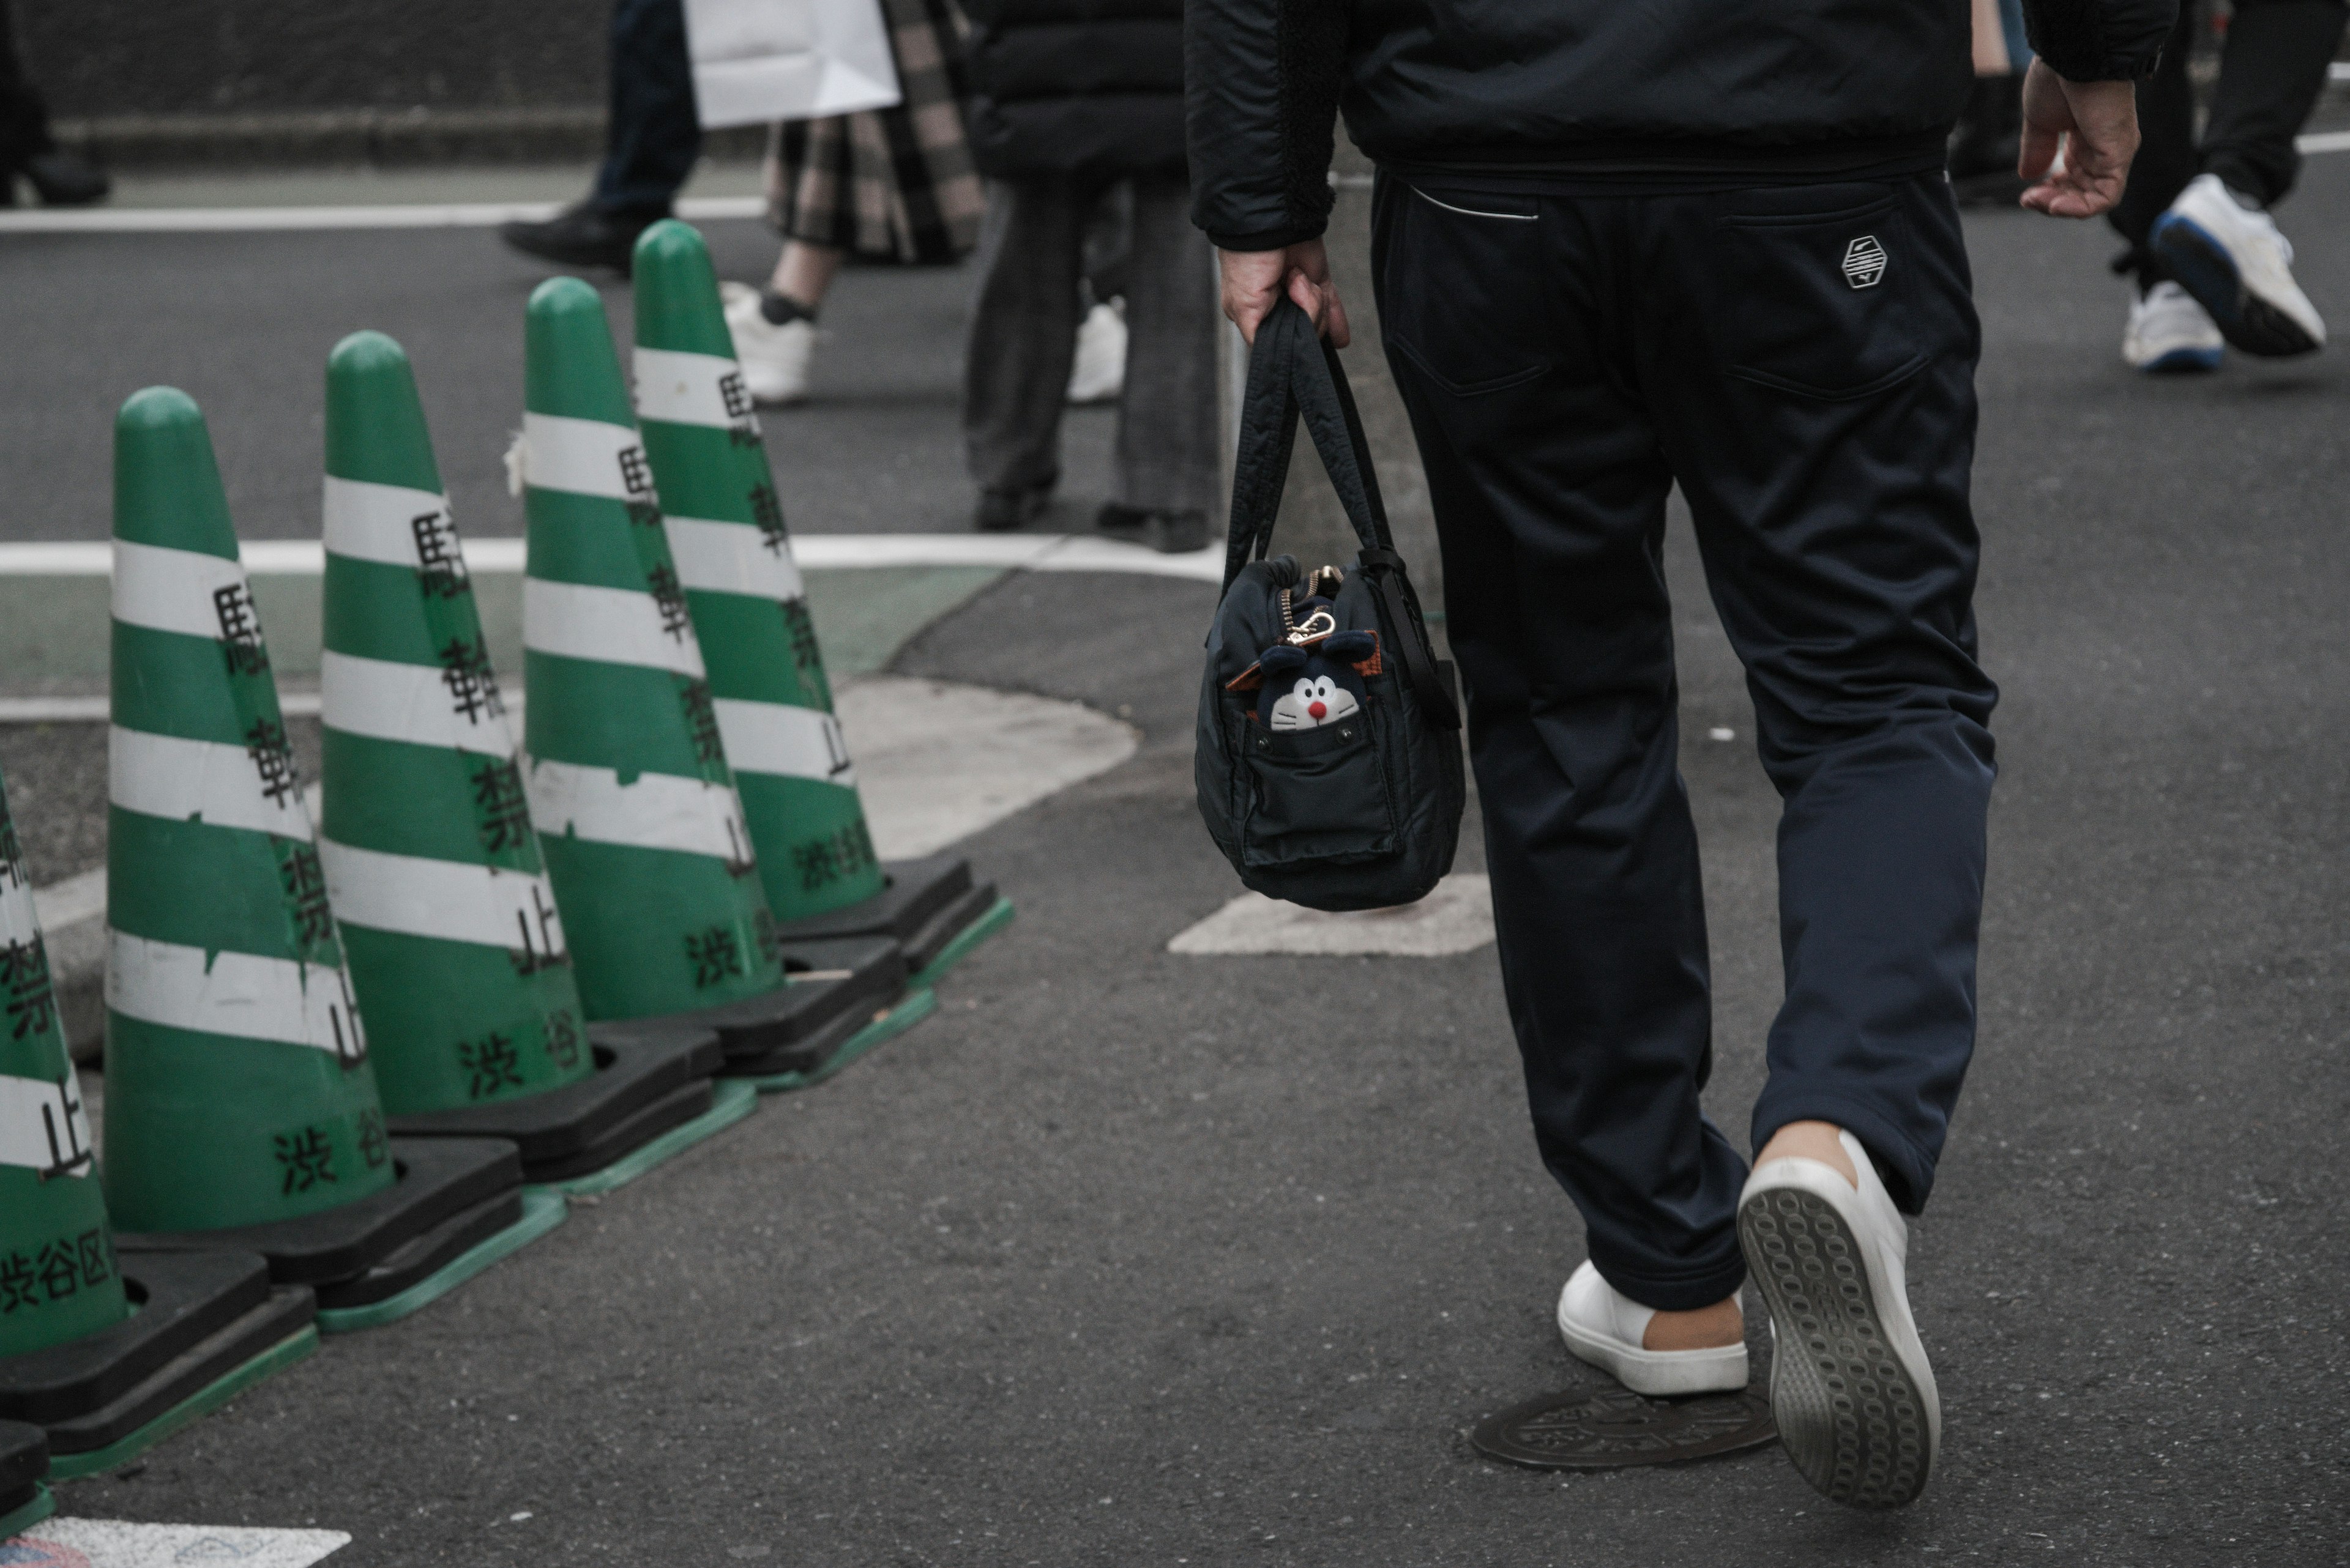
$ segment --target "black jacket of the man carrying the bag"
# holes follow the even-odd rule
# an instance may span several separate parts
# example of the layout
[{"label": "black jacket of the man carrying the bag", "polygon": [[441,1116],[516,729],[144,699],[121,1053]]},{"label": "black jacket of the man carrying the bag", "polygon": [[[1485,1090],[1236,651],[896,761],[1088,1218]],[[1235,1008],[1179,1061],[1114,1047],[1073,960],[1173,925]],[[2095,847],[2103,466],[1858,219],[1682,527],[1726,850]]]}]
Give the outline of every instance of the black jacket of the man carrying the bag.
[{"label": "black jacket of the man carrying the bag", "polygon": [[[2150,75],[2176,0],[2023,0],[2075,80]],[[1191,0],[1191,219],[1311,240],[1332,120],[1386,167],[1932,169],[1967,99],[1967,0]]]}]

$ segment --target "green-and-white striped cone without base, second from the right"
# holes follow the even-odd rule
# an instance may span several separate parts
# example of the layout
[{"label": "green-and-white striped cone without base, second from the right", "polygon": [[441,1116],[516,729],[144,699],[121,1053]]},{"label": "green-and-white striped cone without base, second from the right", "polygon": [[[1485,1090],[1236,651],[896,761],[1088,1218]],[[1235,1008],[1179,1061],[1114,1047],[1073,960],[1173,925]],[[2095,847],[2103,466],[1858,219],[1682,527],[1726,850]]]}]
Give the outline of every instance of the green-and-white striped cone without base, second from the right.
[{"label": "green-and-white striped cone without base, second from the right", "polygon": [[524,783],[588,1018],[773,992],[776,919],[604,301],[552,277],[524,341]]}]

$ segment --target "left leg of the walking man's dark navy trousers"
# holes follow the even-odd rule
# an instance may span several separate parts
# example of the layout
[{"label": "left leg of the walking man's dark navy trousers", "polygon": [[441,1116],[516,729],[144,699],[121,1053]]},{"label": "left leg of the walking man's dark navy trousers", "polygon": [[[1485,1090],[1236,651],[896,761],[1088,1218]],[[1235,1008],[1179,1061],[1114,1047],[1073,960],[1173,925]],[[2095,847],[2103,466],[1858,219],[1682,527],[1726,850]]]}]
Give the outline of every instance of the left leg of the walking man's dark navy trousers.
[{"label": "left leg of the walking man's dark navy trousers", "polygon": [[1699,1110],[1713,1013],[1661,559],[1673,475],[1629,395],[1614,235],[1591,230],[1617,202],[1537,221],[1530,197],[1417,183],[1379,179],[1372,284],[1436,508],[1535,1145],[1610,1288],[1720,1309],[1746,1276],[1746,1164]]}]

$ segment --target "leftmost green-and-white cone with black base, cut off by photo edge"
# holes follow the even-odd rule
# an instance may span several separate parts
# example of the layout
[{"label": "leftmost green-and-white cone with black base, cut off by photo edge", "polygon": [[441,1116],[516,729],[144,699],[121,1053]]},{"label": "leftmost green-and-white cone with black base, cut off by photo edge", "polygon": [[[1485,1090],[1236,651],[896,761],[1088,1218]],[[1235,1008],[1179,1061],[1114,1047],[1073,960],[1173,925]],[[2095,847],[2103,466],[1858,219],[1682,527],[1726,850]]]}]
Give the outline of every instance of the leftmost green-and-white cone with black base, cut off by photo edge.
[{"label": "leftmost green-and-white cone with black base, cut off by photo edge", "polygon": [[[0,1521],[7,1425],[45,1469],[120,1465],[317,1345],[308,1291],[249,1253],[115,1255],[89,1119],[59,1027],[31,875],[0,788]],[[129,1293],[141,1309],[134,1314]],[[202,1342],[202,1345],[200,1345]],[[7,1535],[0,1523],[0,1537]]]}]

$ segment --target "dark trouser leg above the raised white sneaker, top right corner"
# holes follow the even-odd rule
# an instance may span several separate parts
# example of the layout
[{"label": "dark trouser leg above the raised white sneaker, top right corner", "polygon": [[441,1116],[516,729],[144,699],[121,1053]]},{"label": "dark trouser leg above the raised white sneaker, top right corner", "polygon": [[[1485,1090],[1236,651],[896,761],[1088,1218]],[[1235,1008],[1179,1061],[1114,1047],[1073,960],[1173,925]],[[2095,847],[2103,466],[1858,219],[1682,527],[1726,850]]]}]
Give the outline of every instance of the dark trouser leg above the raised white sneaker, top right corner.
[{"label": "dark trouser leg above the raised white sneaker, top right corner", "polygon": [[2326,89],[2350,9],[2341,0],[2237,0],[2204,125],[2202,172],[2261,207],[2301,174],[2294,136]]}]

